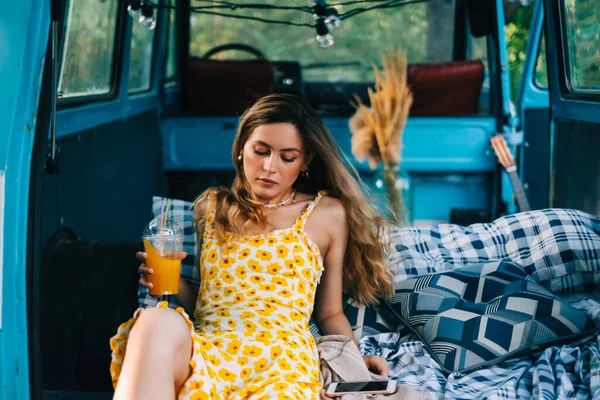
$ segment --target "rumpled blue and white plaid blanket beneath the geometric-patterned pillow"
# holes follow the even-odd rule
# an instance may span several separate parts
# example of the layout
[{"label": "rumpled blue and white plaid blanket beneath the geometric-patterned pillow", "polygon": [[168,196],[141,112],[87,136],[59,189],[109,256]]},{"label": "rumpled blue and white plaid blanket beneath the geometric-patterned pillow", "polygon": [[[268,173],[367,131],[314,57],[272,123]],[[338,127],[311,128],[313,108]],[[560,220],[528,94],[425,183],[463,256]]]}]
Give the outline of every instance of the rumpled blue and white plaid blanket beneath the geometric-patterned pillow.
[{"label": "rumpled blue and white plaid blanket beneath the geometric-patterned pillow", "polygon": [[[600,294],[563,297],[600,322]],[[413,334],[382,333],[361,339],[364,354],[381,355],[390,376],[437,399],[599,399],[600,336],[554,346],[493,368],[446,376]]]}]

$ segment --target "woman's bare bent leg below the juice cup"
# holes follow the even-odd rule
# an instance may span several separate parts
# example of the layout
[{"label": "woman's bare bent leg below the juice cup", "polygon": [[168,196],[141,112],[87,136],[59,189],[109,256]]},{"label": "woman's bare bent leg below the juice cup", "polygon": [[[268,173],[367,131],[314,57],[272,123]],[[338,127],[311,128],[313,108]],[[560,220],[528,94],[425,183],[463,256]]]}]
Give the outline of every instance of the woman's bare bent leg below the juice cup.
[{"label": "woman's bare bent leg below the juice cup", "polygon": [[115,400],[174,399],[191,374],[192,339],[183,317],[147,308],[129,333]]}]

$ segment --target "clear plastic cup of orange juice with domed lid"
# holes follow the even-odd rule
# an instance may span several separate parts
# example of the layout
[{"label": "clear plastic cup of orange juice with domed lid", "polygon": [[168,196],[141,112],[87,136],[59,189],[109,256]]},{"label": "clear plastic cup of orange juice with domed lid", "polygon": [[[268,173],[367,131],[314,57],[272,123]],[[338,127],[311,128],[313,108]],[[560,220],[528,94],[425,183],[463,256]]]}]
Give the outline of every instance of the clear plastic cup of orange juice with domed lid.
[{"label": "clear plastic cup of orange juice with domed lid", "polygon": [[179,293],[181,260],[177,257],[183,248],[183,229],[172,219],[155,218],[144,228],[142,235],[146,250],[146,267],[151,296]]}]

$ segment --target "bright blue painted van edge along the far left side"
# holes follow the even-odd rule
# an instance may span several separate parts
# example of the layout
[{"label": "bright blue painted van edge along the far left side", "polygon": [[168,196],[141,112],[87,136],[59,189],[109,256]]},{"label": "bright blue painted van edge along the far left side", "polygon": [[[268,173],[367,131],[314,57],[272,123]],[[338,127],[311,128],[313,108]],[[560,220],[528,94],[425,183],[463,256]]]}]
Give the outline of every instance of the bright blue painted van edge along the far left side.
[{"label": "bright blue painted van edge along the far left side", "polygon": [[[27,218],[31,151],[49,8],[3,2],[0,12],[0,173],[6,174],[1,260],[0,399],[29,399]],[[2,246],[2,244],[0,244]]]}]

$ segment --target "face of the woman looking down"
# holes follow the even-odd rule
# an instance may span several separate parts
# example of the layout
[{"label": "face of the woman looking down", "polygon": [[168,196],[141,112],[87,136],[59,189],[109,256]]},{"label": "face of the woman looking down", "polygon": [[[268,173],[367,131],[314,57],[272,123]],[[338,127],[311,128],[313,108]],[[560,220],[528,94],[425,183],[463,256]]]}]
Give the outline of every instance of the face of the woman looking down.
[{"label": "face of the woman looking down", "polygon": [[242,152],[244,175],[254,194],[265,202],[287,198],[300,171],[307,168],[302,138],[287,122],[256,127]]}]

